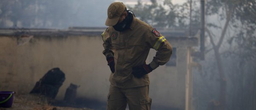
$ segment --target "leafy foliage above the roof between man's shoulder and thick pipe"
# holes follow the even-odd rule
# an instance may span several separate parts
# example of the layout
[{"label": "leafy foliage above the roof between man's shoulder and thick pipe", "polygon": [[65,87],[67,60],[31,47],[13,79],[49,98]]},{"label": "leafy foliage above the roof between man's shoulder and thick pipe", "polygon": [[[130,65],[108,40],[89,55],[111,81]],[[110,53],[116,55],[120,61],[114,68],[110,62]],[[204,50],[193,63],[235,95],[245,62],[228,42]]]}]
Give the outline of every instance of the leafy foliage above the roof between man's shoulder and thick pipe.
[{"label": "leafy foliage above the roof between man's shoulder and thick pipe", "polygon": [[[200,27],[200,10],[198,3],[193,1],[192,9],[192,34],[196,34]],[[142,4],[138,0],[137,5],[128,8],[133,11],[137,18],[156,28],[189,29],[189,0],[182,5],[173,4],[171,0],[151,0],[151,5]]]}]

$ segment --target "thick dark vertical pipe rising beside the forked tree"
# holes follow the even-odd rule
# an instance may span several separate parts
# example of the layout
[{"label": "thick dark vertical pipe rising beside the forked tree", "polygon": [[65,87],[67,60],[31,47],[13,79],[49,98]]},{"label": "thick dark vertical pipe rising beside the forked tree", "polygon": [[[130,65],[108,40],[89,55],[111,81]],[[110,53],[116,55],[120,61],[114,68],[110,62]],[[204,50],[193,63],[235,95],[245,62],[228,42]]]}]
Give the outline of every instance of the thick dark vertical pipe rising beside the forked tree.
[{"label": "thick dark vertical pipe rising beside the forked tree", "polygon": [[200,34],[200,51],[201,60],[205,59],[205,0],[201,0],[201,34]]}]

